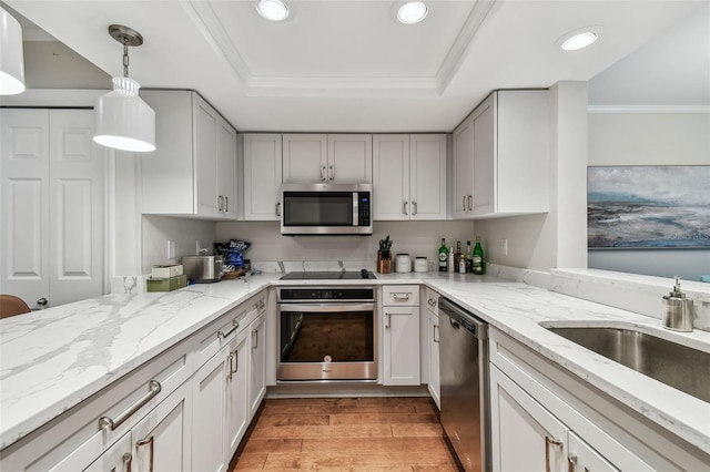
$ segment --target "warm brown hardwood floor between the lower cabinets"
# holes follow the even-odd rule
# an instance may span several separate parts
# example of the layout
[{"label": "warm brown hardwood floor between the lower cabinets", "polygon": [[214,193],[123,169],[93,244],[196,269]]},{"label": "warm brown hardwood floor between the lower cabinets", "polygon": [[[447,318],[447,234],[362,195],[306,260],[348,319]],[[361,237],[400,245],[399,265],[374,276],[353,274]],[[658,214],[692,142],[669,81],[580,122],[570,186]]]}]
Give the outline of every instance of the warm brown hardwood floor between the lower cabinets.
[{"label": "warm brown hardwood floor between the lower cabinets", "polygon": [[267,399],[232,472],[458,471],[428,398]]}]

